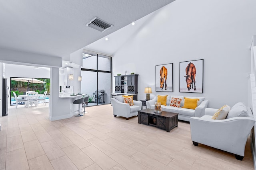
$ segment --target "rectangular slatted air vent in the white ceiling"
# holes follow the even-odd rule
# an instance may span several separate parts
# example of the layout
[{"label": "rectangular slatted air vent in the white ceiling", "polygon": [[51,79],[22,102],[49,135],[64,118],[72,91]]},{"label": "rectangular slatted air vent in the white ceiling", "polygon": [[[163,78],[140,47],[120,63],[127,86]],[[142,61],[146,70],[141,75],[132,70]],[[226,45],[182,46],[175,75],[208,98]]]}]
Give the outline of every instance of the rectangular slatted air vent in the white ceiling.
[{"label": "rectangular slatted air vent in the white ceiling", "polygon": [[90,22],[88,22],[86,25],[100,32],[106,31],[107,29],[113,26],[110,23],[107,23],[106,21],[103,21],[97,17],[91,20]]}]

